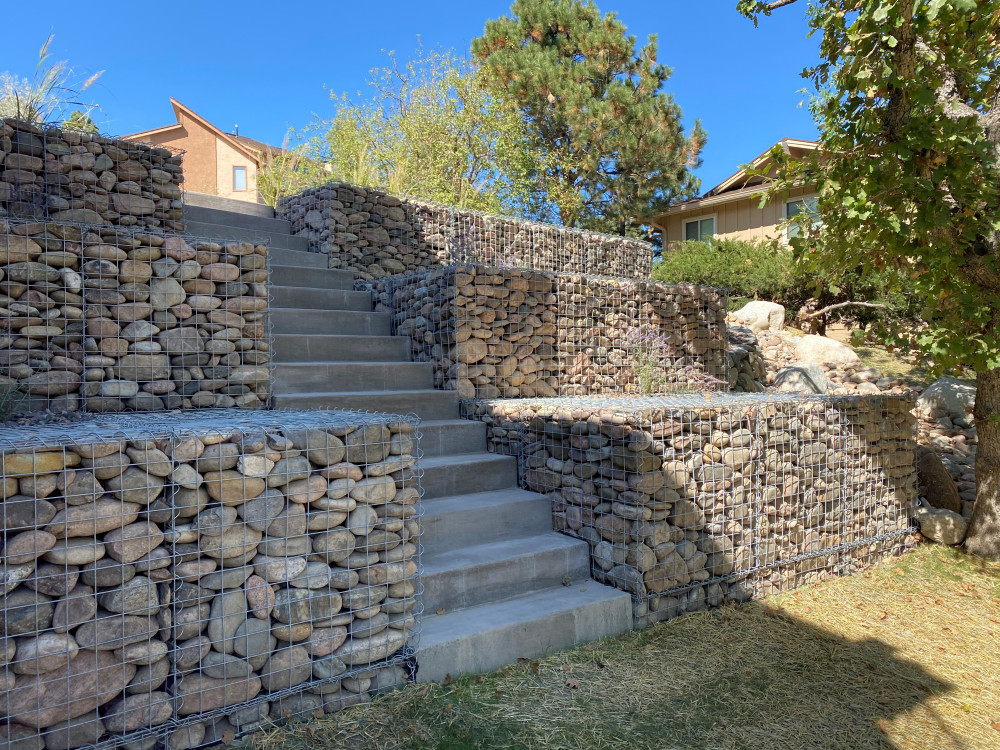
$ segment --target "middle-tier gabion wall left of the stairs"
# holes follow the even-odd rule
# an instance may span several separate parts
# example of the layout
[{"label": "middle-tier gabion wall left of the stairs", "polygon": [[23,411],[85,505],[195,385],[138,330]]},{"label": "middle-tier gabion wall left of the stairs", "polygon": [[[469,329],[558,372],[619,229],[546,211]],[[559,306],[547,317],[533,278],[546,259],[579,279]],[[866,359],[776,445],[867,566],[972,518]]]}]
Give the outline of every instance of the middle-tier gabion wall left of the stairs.
[{"label": "middle-tier gabion wall left of the stairs", "polygon": [[0,220],[0,390],[27,410],[266,406],[267,280],[263,244]]}]

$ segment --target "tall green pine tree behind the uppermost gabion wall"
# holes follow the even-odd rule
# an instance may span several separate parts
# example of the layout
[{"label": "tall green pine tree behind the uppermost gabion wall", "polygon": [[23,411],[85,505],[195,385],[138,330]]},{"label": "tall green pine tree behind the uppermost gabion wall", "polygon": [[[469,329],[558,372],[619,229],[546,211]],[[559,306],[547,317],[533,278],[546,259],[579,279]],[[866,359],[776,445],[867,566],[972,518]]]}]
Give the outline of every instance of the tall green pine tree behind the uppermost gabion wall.
[{"label": "tall green pine tree behind the uppermost gabion wall", "polygon": [[685,135],[655,36],[637,50],[591,0],[515,0],[472,51],[523,114],[540,154],[536,200],[566,226],[626,234],[697,193],[705,133],[696,123]]}]

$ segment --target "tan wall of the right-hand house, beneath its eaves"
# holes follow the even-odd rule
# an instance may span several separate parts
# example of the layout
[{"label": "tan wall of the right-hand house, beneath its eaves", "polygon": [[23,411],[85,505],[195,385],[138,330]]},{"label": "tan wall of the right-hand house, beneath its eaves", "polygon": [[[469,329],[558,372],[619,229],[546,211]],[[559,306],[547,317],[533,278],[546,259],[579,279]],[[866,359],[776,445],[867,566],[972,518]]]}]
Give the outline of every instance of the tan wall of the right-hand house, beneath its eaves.
[{"label": "tan wall of the right-hand house, beneath its eaves", "polygon": [[694,208],[689,211],[668,214],[663,229],[663,246],[684,240],[684,224],[692,219],[715,216],[715,236],[718,239],[785,241],[785,233],[779,228],[784,219],[786,201],[814,195],[811,188],[793,188],[780,200],[770,200],[763,208],[760,195],[719,203],[714,206]]}]

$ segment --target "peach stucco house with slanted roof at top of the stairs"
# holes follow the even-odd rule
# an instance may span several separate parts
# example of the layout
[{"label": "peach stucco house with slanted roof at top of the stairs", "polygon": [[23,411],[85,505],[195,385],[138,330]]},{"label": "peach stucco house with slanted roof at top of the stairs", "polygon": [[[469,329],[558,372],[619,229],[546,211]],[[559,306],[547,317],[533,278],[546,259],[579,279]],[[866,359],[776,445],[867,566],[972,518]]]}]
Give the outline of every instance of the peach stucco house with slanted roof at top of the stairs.
[{"label": "peach stucco house with slanted roof at top of the stairs", "polygon": [[226,133],[171,97],[177,122],[125,136],[127,140],[184,151],[184,189],[259,203],[261,156],[282,149],[237,133]]}]

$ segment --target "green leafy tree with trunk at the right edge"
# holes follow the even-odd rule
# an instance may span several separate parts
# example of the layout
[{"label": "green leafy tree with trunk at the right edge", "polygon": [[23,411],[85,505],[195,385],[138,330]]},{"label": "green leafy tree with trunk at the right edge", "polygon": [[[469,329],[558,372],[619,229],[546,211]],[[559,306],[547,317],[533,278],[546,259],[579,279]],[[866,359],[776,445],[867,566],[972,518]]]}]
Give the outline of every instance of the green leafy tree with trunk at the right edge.
[{"label": "green leafy tree with trunk at the right edge", "polygon": [[[756,22],[794,2],[738,9]],[[927,322],[918,345],[939,368],[975,370],[966,549],[1000,558],[1000,2],[810,0],[808,17],[822,149],[786,161],[775,189],[816,180],[823,229],[796,249],[832,278],[908,275]]]}]

